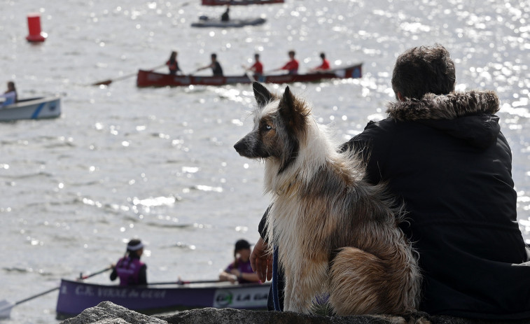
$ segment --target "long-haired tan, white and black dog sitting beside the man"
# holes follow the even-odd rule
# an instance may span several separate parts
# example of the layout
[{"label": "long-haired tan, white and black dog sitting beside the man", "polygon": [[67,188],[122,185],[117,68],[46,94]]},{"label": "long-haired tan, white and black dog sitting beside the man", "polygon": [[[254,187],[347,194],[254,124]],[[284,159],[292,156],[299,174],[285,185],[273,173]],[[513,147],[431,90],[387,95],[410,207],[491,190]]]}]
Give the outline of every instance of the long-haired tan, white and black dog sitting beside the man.
[{"label": "long-haired tan, white and black dog sitting beside the man", "polygon": [[253,83],[254,127],[234,146],[265,161],[269,246],[284,268],[284,311],[310,313],[316,297],[340,316],[416,311],[421,276],[398,223],[403,207],[365,180],[361,157],[337,152],[307,102]]}]

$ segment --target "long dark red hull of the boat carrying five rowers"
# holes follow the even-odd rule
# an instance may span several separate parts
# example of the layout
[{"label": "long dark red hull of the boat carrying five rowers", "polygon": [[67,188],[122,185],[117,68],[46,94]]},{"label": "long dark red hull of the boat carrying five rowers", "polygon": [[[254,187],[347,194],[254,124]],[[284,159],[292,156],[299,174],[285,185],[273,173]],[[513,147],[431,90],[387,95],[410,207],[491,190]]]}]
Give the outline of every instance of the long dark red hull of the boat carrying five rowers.
[{"label": "long dark red hull of the boat carrying five rowers", "polygon": [[[282,74],[268,76],[253,76],[253,80],[261,83],[293,83],[318,82],[326,79],[361,78],[362,63],[344,66],[343,68],[307,74]],[[179,87],[188,85],[231,85],[236,83],[253,82],[249,76],[172,76],[166,73],[139,70],[137,76],[138,87]]]}]

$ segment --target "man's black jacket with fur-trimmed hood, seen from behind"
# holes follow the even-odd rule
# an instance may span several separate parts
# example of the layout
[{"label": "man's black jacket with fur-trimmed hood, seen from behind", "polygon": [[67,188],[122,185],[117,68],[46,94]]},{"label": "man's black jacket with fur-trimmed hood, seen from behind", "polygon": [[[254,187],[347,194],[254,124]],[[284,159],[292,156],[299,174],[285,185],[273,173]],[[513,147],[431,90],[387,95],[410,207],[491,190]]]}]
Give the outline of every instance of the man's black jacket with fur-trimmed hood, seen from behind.
[{"label": "man's black jacket with fur-trimmed hood, seen from behind", "polygon": [[[420,308],[470,318],[530,318],[530,266],[517,224],[510,147],[494,92],[427,94],[389,105],[344,148],[370,182],[405,202],[419,252]],[[529,262],[530,263],[530,262]]]}]

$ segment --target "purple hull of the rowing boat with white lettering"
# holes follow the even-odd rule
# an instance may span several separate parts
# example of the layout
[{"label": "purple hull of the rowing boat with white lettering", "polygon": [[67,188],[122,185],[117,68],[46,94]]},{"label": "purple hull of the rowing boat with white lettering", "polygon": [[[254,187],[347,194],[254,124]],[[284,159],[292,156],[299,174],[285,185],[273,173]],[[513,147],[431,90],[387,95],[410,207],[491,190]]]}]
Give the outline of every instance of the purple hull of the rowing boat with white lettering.
[{"label": "purple hull of the rowing boat with white lettering", "polygon": [[108,286],[62,279],[57,318],[76,316],[109,301],[142,314],[203,307],[266,309],[270,283],[229,282],[171,286]]}]

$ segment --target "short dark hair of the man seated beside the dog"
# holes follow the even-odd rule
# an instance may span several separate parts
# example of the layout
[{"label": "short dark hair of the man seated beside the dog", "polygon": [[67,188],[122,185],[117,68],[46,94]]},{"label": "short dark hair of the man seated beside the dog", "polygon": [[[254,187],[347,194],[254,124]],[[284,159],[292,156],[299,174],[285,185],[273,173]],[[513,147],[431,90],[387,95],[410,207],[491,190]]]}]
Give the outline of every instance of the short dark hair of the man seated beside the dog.
[{"label": "short dark hair of the man seated beside the dog", "polygon": [[426,93],[454,91],[454,62],[440,44],[410,48],[396,59],[392,89],[403,97],[421,99]]}]

